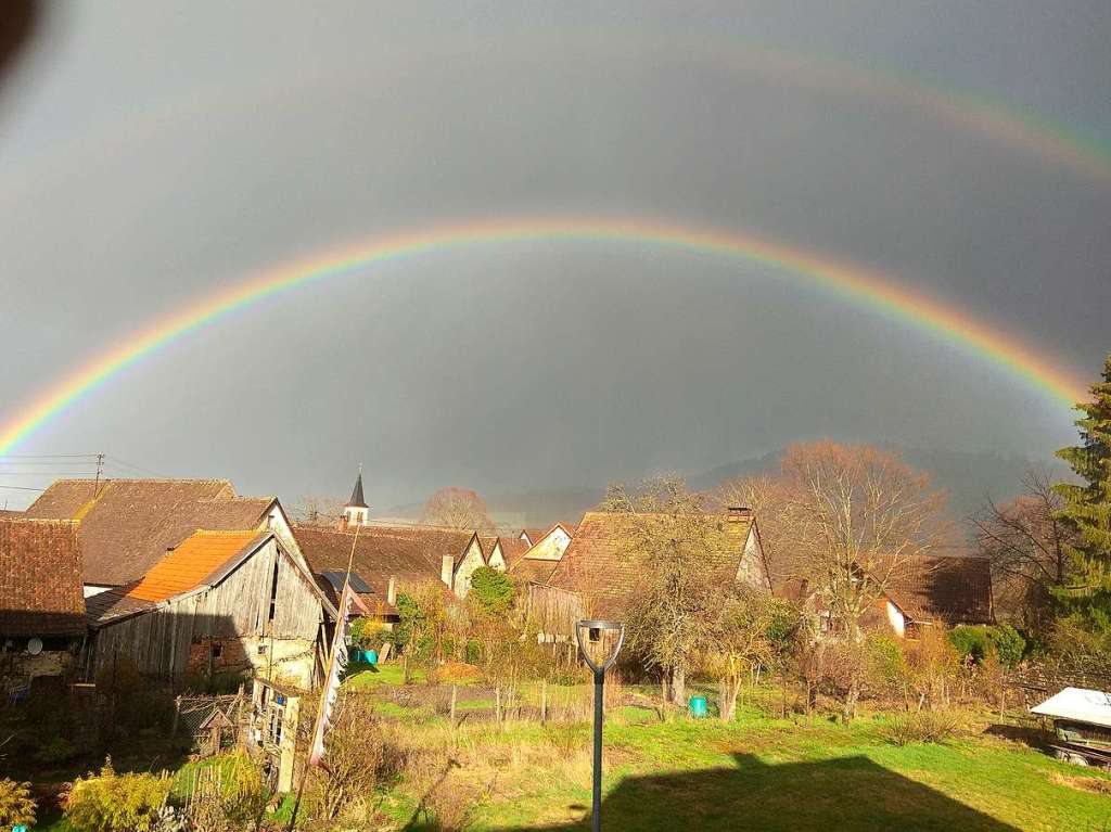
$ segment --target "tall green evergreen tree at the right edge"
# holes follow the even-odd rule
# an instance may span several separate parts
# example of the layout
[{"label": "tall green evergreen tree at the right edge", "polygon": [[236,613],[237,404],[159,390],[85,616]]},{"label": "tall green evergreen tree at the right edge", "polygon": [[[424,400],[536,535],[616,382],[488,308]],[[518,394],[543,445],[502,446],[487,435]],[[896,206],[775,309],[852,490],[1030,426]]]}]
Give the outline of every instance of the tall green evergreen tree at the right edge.
[{"label": "tall green evergreen tree at the right edge", "polygon": [[1081,483],[1059,483],[1064,501],[1060,520],[1074,533],[1068,547],[1075,571],[1071,587],[1057,592],[1069,618],[1111,643],[1111,355],[1103,380],[1092,385],[1092,400],[1077,405],[1080,444],[1057,455]]}]

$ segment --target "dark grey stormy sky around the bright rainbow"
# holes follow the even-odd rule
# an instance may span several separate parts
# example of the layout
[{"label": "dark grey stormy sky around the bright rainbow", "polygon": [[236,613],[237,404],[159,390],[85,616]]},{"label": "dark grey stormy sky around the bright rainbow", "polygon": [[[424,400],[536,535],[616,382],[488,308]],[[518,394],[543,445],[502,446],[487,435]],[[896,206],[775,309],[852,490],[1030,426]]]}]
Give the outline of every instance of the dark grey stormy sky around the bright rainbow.
[{"label": "dark grey stormy sky around the bright rainbow", "polygon": [[[248,277],[537,217],[820,252],[1094,380],[1108,42],[1103,0],[47,6],[0,79],[0,424]],[[1041,459],[1073,418],[967,347],[768,265],[474,244],[167,344],[0,458],[0,505],[93,470],[44,454],[287,499],[343,495],[361,463],[392,507],[694,473],[818,437]]]}]

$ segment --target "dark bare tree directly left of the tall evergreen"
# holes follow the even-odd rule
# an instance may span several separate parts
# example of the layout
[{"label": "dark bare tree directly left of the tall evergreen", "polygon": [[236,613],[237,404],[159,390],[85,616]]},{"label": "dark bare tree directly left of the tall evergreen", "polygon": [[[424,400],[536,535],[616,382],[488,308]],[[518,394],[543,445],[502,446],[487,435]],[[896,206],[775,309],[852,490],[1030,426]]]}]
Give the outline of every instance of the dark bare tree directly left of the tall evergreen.
[{"label": "dark bare tree directly left of the tall evergreen", "polygon": [[1062,508],[1049,473],[1031,470],[1021,495],[989,500],[972,519],[980,553],[991,561],[995,610],[1010,623],[1041,631],[1051,623],[1051,592],[1065,585],[1072,565]]}]

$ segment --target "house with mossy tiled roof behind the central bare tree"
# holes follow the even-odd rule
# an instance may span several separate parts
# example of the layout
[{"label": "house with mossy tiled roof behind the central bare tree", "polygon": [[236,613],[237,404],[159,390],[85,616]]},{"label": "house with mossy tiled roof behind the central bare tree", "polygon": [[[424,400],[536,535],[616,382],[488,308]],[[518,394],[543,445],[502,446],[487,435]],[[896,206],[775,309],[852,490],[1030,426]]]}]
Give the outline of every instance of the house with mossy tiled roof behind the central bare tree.
[{"label": "house with mossy tiled roof behind the central bare tree", "polygon": [[[752,512],[729,509],[724,514],[710,515],[708,521],[707,565],[719,580],[723,584],[740,583],[770,592],[763,548]],[[565,615],[621,618],[640,580],[637,538],[641,531],[639,524],[645,522],[665,531],[679,521],[670,514],[631,517],[588,512],[546,585],[530,588],[530,614],[553,621],[564,615],[552,612],[558,608],[565,611]],[[572,623],[567,622],[569,626]],[[567,635],[567,631],[560,635]]]}]

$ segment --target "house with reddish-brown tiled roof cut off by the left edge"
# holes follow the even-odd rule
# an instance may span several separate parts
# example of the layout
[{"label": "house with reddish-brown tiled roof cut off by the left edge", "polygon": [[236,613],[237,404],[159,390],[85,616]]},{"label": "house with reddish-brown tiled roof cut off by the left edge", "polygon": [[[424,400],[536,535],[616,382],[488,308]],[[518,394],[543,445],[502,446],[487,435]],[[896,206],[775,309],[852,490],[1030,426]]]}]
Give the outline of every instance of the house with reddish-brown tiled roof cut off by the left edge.
[{"label": "house with reddish-brown tiled roof cut off by the left edge", "polygon": [[77,523],[0,519],[0,689],[67,680],[84,635]]}]

